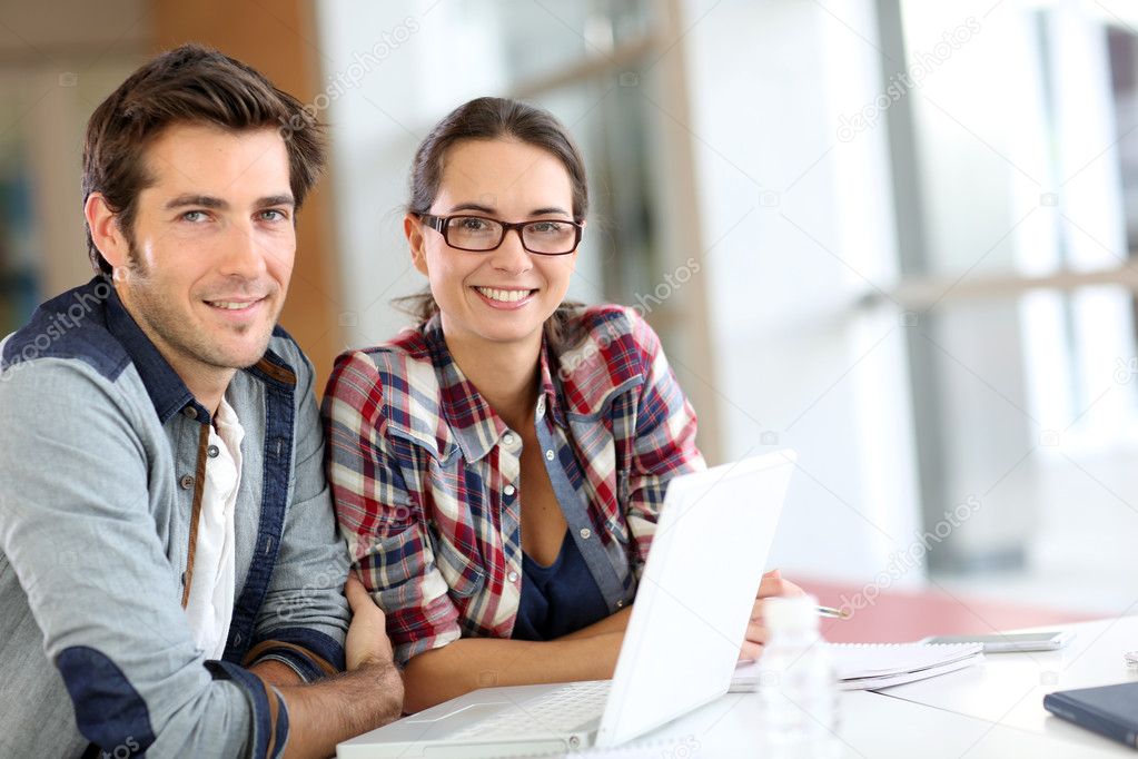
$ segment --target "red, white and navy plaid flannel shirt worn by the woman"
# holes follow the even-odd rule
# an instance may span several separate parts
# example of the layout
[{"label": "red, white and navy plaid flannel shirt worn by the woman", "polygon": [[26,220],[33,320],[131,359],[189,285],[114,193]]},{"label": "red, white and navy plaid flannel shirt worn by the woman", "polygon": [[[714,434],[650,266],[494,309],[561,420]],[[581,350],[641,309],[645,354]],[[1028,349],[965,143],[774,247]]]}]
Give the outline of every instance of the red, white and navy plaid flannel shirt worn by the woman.
[{"label": "red, white and navy plaid flannel shirt worn by the woman", "polygon": [[[695,413],[648,323],[618,306],[577,319],[582,337],[560,356],[543,341],[535,423],[570,535],[616,611],[635,594],[668,480],[704,464]],[[438,316],[343,354],[323,416],[340,529],[396,660],[510,637],[521,438],[454,363]]]}]

